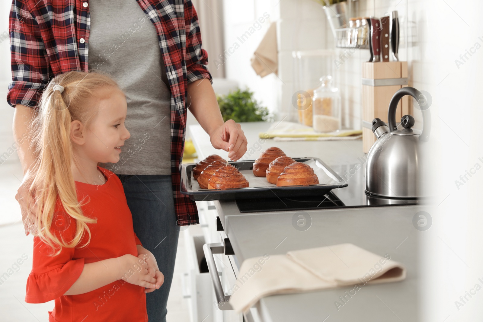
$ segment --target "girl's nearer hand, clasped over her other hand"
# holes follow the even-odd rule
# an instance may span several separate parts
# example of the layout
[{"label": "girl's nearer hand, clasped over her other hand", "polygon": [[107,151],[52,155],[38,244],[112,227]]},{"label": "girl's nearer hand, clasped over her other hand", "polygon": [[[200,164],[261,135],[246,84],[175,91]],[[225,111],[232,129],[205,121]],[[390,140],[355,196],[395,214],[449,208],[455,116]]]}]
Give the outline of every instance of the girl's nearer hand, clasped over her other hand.
[{"label": "girl's nearer hand, clasped over her other hand", "polygon": [[147,288],[156,288],[156,279],[149,275],[148,264],[144,259],[131,254],[122,255],[122,280]]}]

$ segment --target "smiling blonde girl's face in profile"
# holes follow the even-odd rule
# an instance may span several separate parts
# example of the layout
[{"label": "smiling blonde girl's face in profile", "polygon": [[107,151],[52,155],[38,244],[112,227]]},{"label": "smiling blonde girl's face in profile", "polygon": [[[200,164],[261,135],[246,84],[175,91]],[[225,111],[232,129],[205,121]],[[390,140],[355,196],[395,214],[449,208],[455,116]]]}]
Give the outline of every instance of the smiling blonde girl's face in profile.
[{"label": "smiling blonde girl's face in profile", "polygon": [[82,150],[92,161],[116,163],[124,141],[131,136],[124,126],[128,104],[124,93],[118,89],[107,89],[103,94],[98,101],[97,115],[83,131],[85,143]]}]

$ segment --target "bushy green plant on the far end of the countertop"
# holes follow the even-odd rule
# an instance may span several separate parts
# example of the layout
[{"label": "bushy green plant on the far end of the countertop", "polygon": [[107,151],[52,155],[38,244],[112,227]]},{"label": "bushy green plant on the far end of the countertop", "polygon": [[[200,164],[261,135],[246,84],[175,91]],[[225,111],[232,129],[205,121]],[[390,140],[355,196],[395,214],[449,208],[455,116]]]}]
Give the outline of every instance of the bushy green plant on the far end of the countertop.
[{"label": "bushy green plant on the far end of the countertop", "polygon": [[225,122],[230,119],[237,123],[272,121],[269,110],[253,98],[253,92],[248,88],[238,88],[227,95],[217,95],[216,99]]}]

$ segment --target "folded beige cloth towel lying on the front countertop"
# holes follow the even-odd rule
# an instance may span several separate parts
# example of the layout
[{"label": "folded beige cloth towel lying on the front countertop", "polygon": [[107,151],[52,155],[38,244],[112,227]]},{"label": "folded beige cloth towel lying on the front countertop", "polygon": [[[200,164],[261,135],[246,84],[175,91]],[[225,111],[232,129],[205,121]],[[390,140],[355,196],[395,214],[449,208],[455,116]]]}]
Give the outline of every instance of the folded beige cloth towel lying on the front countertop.
[{"label": "folded beige cloth towel lying on the front countertop", "polygon": [[235,311],[246,312],[268,295],[404,280],[406,268],[390,258],[353,244],[248,258],[241,264],[229,302]]}]

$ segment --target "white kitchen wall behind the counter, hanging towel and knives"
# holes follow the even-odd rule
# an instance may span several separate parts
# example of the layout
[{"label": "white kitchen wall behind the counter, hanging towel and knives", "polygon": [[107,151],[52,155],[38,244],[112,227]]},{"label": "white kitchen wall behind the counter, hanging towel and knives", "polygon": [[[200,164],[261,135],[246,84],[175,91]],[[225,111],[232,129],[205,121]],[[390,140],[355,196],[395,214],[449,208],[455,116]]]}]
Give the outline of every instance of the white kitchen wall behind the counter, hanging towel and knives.
[{"label": "white kitchen wall behind the counter, hanging towel and knives", "polygon": [[[424,17],[420,17],[420,3],[408,0],[351,2],[354,15],[357,16],[380,17],[392,10],[398,10],[401,28],[399,57],[400,60],[409,59],[409,77],[413,85],[421,85],[423,82],[421,73],[417,71],[418,68],[420,69],[418,62],[414,62],[415,57],[422,55],[422,47],[418,43],[422,35],[418,34],[421,30],[417,28],[418,24],[424,24],[424,20],[421,20]],[[324,10],[314,0],[224,0],[226,49],[233,47],[235,42],[239,42],[237,37],[248,30],[264,12],[268,13],[270,18],[262,28],[227,57],[224,63],[227,79],[236,79],[241,87],[248,86],[254,90],[256,99],[268,106],[276,119],[296,121],[298,113],[292,103],[295,92],[314,88],[319,83],[319,77],[326,76],[330,72],[343,98],[342,124],[347,128],[360,129],[361,65],[369,59],[369,50],[360,49],[354,53],[348,53],[347,49],[335,48],[334,37]],[[277,23],[279,71],[277,75],[272,73],[260,78],[252,69],[250,58],[271,21]],[[297,62],[293,52],[320,49],[334,51],[334,56],[328,58],[327,71],[325,71],[326,68],[314,68],[309,81],[298,79]],[[341,58],[340,55],[345,57]],[[210,59],[217,59],[217,57],[211,56]],[[313,60],[309,61],[310,64],[313,64]],[[413,77],[414,71],[415,77]],[[417,113],[414,116],[416,122],[419,122],[421,116]]]}]

